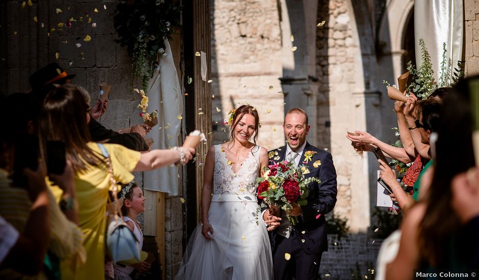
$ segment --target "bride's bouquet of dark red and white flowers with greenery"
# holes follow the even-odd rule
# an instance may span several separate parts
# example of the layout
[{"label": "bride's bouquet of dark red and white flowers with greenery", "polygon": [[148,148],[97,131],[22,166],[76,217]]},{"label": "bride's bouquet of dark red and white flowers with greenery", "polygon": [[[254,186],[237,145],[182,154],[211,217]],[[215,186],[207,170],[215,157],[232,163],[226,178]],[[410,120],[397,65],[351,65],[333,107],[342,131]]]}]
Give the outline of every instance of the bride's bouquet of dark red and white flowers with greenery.
[{"label": "bride's bouquet of dark red and white flowers with greenery", "polygon": [[[281,161],[268,166],[262,177],[256,178],[258,199],[268,205],[275,205],[286,212],[291,225],[298,223],[298,218],[290,216],[292,203],[301,206],[308,203],[306,198],[309,194],[308,184],[311,182],[321,183],[314,177],[305,179],[304,174],[309,173],[306,166],[295,167],[292,162]],[[266,167],[264,167],[266,169]]]}]

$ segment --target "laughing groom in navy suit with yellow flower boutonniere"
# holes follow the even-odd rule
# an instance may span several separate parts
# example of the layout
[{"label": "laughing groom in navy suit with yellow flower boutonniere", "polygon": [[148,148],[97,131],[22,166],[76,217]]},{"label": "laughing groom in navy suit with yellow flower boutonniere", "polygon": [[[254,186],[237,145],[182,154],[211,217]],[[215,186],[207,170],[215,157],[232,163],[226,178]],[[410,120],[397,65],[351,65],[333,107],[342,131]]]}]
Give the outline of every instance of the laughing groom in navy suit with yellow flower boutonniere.
[{"label": "laughing groom in navy suit with yellow flower boutonniere", "polygon": [[[305,178],[316,177],[321,183],[309,184],[308,203],[294,203],[289,213],[299,222],[291,226],[283,211],[270,208],[263,212],[267,222],[273,250],[274,278],[277,280],[317,279],[323,251],[328,250],[325,214],[336,204],[336,170],[330,153],[306,142],[310,126],[308,115],[301,108],[293,108],[284,118],[283,130],[288,145],[269,153],[270,164],[294,160],[297,166],[305,165],[309,172]],[[272,222],[278,220],[278,222]],[[289,257],[289,258],[288,258]]]}]

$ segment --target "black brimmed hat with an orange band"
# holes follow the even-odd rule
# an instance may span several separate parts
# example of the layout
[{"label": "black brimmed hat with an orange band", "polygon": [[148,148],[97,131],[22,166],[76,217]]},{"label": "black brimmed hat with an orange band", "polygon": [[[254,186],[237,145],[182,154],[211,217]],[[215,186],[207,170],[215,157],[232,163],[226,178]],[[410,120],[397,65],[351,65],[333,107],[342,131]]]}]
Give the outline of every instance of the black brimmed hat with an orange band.
[{"label": "black brimmed hat with an orange band", "polygon": [[52,62],[30,75],[29,81],[32,90],[37,91],[44,86],[52,85],[54,83],[63,85],[67,79],[71,79],[74,76],[75,74],[68,75],[58,63]]}]

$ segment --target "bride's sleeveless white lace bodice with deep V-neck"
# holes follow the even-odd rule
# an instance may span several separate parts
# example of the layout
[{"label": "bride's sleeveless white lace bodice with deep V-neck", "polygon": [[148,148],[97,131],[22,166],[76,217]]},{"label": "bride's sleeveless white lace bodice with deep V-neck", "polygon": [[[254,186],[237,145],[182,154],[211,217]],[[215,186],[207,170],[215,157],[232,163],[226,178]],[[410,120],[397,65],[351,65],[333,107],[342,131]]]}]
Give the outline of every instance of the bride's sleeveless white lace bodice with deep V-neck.
[{"label": "bride's sleeveless white lace bodice with deep V-neck", "polygon": [[[259,171],[260,147],[253,147],[253,154],[243,161],[243,165],[233,172],[228,165],[221,145],[215,145],[215,173],[213,174],[213,194],[252,194],[256,195],[255,181]],[[235,163],[236,164],[236,163]]]}]

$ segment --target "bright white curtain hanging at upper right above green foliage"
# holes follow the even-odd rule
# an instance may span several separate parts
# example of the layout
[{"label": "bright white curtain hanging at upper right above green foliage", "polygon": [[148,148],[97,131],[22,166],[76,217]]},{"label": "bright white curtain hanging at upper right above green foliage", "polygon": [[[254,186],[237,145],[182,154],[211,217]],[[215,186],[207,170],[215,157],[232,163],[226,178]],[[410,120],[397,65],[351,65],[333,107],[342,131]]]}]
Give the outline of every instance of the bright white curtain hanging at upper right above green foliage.
[{"label": "bright white curtain hanging at upper right above green foliage", "polygon": [[446,43],[446,85],[452,82],[451,74],[462,60],[464,30],[463,0],[416,0],[414,2],[414,32],[416,63],[421,64],[422,38],[431,55],[434,76],[439,83],[443,61],[443,43]]}]

